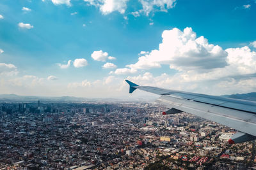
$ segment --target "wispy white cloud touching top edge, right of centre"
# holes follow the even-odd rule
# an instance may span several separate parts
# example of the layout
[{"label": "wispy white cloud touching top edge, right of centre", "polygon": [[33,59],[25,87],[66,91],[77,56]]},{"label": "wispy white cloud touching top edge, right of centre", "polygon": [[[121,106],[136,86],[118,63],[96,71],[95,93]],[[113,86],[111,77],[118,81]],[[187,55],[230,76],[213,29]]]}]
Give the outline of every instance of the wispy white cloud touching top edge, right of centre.
[{"label": "wispy white cloud touching top edge, right of centre", "polygon": [[142,10],[140,13],[144,13],[145,15],[149,15],[150,12],[154,10],[165,11],[173,8],[175,6],[176,0],[140,0],[142,4]]}]

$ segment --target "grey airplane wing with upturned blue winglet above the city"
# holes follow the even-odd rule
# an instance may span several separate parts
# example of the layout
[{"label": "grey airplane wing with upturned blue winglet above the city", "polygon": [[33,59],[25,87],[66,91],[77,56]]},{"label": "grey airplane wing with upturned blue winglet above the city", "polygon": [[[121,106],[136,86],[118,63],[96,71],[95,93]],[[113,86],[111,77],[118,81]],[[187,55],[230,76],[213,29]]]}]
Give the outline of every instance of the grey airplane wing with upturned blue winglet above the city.
[{"label": "grey airplane wing with upturned blue winglet above the city", "polygon": [[130,85],[129,93],[140,89],[161,95],[156,102],[170,108],[163,115],[184,111],[236,129],[239,132],[228,140],[230,144],[256,139],[256,102],[140,86],[125,81]]}]

